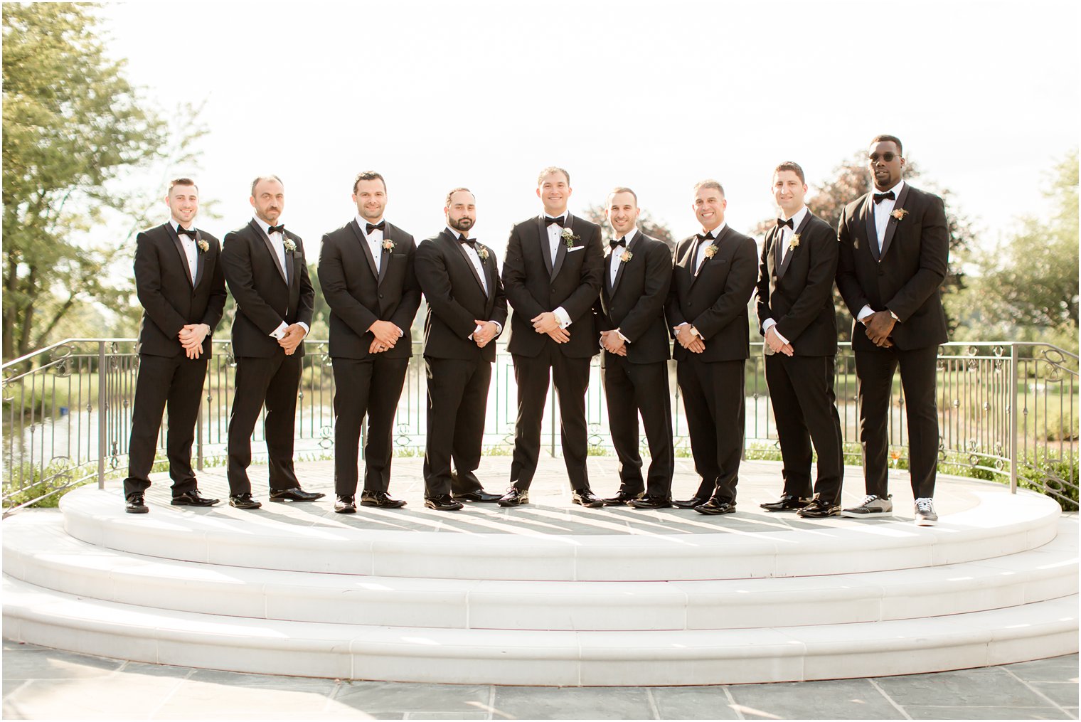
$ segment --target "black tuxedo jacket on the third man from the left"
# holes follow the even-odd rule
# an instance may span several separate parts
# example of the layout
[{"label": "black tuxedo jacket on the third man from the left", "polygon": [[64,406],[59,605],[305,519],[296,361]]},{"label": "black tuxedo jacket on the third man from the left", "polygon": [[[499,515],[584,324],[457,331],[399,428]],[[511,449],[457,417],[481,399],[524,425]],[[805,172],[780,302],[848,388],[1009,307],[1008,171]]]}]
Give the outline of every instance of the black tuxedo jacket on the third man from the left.
[{"label": "black tuxedo jacket on the third man from the left", "polygon": [[[388,242],[392,244],[389,250]],[[323,236],[319,284],[331,308],[332,358],[370,358],[375,334],[368,329],[375,321],[390,321],[404,332],[393,348],[379,356],[413,356],[410,327],[421,305],[421,285],[413,268],[415,253],[413,237],[387,223],[376,272],[371,246],[356,218]]]}]

